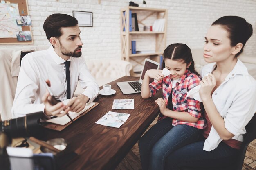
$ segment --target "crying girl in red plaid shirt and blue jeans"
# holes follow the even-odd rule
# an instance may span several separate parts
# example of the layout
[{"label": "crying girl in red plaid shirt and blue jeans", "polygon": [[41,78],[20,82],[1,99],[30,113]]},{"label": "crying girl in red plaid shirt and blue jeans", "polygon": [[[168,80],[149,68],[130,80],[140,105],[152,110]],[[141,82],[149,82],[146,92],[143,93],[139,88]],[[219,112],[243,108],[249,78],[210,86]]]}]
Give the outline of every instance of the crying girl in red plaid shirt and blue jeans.
[{"label": "crying girl in red plaid shirt and blue jeans", "polygon": [[[142,98],[153,96],[161,88],[163,90],[163,98],[155,101],[160,107],[160,121],[139,140],[143,170],[164,169],[166,157],[195,142],[206,126],[200,102],[185,99],[186,92],[200,84],[190,48],[186,44],[169,45],[164,50],[163,67],[170,70],[171,75],[163,77],[162,70],[148,70],[141,87]],[[150,78],[158,82],[150,83]]]}]

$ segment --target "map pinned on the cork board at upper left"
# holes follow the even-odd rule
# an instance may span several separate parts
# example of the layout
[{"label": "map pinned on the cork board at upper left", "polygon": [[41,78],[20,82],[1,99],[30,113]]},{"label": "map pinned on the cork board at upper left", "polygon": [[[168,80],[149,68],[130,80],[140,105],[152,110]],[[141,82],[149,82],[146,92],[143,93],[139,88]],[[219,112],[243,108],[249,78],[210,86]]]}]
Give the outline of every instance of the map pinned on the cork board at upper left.
[{"label": "map pinned on the cork board at upper left", "polygon": [[20,17],[18,4],[0,3],[0,38],[16,38],[16,31],[22,31],[22,27],[16,23]]}]

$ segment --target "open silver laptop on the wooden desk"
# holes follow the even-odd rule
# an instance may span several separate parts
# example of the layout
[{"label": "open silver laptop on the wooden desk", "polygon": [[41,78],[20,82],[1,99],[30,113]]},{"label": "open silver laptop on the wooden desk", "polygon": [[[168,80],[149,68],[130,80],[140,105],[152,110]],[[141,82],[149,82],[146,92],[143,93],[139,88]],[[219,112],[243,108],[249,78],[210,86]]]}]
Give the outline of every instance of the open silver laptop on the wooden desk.
[{"label": "open silver laptop on the wooden desk", "polygon": [[[140,93],[142,81],[146,71],[149,69],[158,69],[159,65],[160,65],[159,63],[146,58],[144,61],[143,70],[141,72],[139,81],[117,82],[118,87],[121,89],[123,94]],[[153,81],[154,81],[153,78],[150,78],[150,83]]]}]

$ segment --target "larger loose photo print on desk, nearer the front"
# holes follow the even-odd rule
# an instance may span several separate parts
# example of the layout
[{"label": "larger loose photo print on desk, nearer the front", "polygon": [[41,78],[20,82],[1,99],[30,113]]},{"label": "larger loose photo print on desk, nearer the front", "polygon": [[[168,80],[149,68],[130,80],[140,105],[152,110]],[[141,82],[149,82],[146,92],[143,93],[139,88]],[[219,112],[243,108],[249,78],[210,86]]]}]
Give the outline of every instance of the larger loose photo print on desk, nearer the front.
[{"label": "larger loose photo print on desk, nearer the front", "polygon": [[127,113],[117,113],[109,111],[95,123],[104,126],[120,128],[120,126],[124,124],[124,122],[126,122],[129,116],[130,114]]}]

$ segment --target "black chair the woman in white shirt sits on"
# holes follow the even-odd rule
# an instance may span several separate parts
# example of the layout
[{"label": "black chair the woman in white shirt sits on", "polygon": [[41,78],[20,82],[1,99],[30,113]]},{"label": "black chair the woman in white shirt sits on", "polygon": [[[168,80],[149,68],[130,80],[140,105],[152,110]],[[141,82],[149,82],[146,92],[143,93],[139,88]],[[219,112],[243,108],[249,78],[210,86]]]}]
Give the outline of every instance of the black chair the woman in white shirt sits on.
[{"label": "black chair the woman in white shirt sits on", "polygon": [[[256,114],[254,114],[250,122],[245,126],[245,129],[247,133],[244,136],[244,141],[241,146],[241,150],[236,160],[236,163],[234,163],[234,166],[227,165],[227,167],[217,168],[218,170],[241,170],[242,169],[247,146],[249,145],[250,142],[256,139]],[[216,170],[216,168],[183,167],[180,170]]]}]

